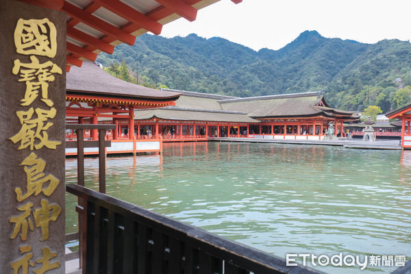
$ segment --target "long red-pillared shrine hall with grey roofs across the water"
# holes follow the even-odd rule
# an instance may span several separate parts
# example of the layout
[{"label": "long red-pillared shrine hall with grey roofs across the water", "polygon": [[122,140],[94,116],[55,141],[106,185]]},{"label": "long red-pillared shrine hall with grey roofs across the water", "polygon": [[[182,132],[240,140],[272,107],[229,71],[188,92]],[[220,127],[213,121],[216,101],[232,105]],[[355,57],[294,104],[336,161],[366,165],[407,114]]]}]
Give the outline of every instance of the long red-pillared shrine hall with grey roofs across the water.
[{"label": "long red-pillared shrine hall with grey roofs across the water", "polygon": [[182,94],[175,106],[135,112],[142,134],[155,130],[166,142],[212,137],[322,140],[329,125],[336,136],[343,136],[343,123],[359,118],[330,108],[322,92],[237,98],[168,91]]}]

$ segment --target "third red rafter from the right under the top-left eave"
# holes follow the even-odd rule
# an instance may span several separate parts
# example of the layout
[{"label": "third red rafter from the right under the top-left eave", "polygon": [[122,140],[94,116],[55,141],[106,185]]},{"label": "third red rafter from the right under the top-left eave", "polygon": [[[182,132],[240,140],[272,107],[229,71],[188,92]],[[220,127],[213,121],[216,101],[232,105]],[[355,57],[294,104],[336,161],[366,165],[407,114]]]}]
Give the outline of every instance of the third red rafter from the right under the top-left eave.
[{"label": "third red rafter from the right under the top-left eave", "polygon": [[99,32],[103,32],[103,34],[107,34],[108,36],[113,36],[114,38],[119,39],[121,40],[121,42],[125,42],[128,45],[132,46],[136,41],[136,37],[132,36],[131,34],[123,32],[123,30],[121,30],[119,27],[114,27],[114,25],[111,25],[80,8],[77,8],[71,3],[64,1],[62,11],[66,12],[69,16],[75,18],[76,20],[97,29]]}]

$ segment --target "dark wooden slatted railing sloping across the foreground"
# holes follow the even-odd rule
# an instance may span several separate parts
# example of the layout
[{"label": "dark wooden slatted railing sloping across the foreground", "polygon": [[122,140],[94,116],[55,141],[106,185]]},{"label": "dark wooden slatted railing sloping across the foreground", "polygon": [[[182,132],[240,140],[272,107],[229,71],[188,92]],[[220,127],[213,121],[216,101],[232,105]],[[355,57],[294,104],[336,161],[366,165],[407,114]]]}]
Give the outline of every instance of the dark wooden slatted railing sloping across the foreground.
[{"label": "dark wooden slatted railing sloping across the foreground", "polygon": [[114,197],[69,185],[83,201],[83,273],[321,273]]}]

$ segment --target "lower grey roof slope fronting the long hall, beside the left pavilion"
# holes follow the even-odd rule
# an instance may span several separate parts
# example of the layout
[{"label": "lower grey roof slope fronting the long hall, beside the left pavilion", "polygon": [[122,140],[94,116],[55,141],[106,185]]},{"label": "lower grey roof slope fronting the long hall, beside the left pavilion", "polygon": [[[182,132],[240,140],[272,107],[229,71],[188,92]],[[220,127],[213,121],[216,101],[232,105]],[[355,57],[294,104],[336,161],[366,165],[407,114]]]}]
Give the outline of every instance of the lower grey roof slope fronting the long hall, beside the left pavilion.
[{"label": "lower grey roof slope fronting the long hall, beside the left pavilion", "polygon": [[150,120],[152,118],[173,121],[212,121],[233,123],[258,123],[245,112],[227,112],[218,110],[195,110],[185,108],[155,108],[151,110],[135,110],[134,119]]}]

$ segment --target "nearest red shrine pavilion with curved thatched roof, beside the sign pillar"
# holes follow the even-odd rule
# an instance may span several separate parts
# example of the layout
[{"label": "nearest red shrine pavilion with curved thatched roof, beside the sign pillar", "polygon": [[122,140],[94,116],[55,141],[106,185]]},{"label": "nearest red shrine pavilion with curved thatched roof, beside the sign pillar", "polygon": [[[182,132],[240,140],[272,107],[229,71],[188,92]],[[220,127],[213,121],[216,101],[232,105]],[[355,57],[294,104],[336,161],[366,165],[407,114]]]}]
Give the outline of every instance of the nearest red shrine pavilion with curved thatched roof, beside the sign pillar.
[{"label": "nearest red shrine pavilion with curved thatched roof, beside the sign pillar", "polygon": [[[116,129],[105,138],[113,140],[106,153],[160,152],[160,136],[140,140],[134,132],[134,111],[175,105],[180,93],[163,92],[125,82],[105,73],[95,62],[84,61],[82,68],[73,67],[66,77],[66,123],[110,123]],[[97,129],[85,132],[86,138],[98,140]],[[74,132],[66,132],[67,140],[75,140]],[[97,154],[88,148],[86,154]],[[66,155],[77,149],[67,148]]]}]

